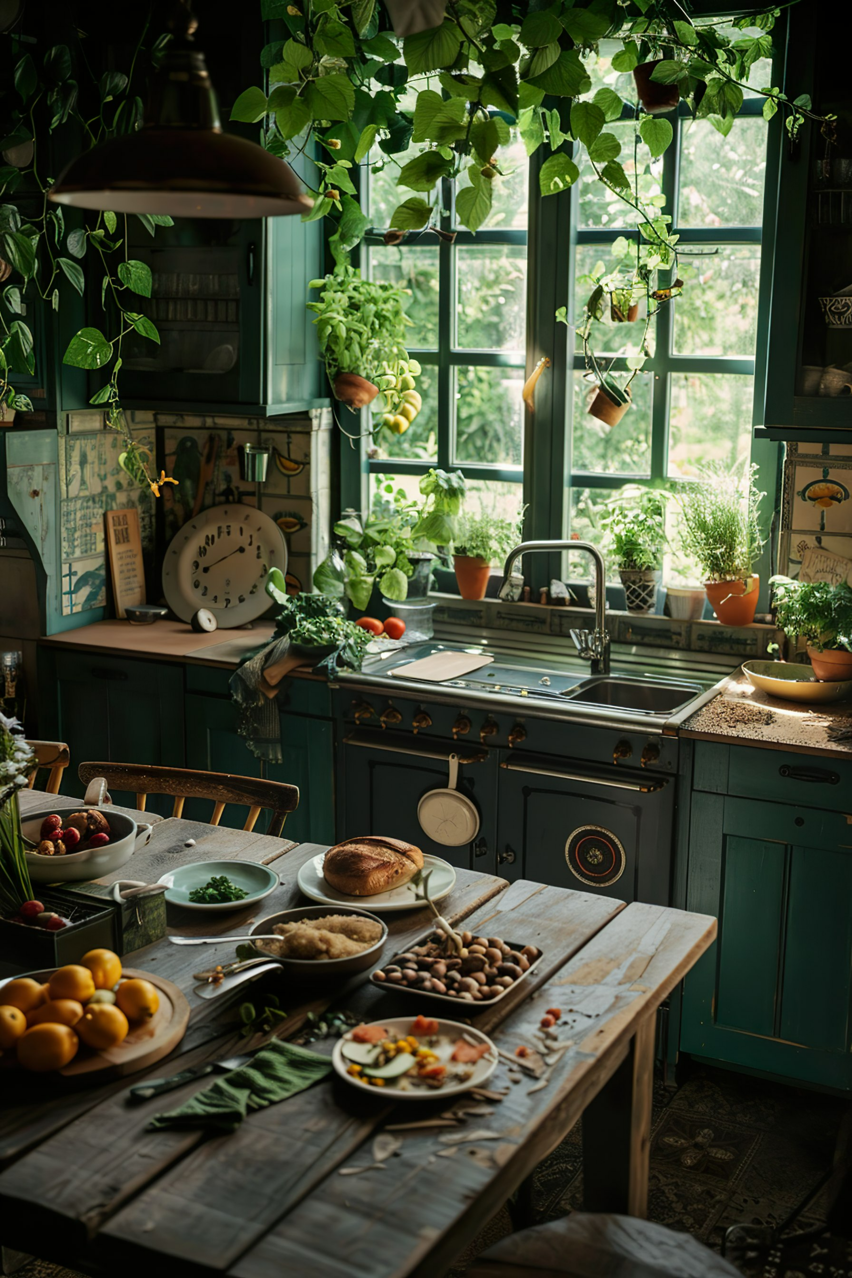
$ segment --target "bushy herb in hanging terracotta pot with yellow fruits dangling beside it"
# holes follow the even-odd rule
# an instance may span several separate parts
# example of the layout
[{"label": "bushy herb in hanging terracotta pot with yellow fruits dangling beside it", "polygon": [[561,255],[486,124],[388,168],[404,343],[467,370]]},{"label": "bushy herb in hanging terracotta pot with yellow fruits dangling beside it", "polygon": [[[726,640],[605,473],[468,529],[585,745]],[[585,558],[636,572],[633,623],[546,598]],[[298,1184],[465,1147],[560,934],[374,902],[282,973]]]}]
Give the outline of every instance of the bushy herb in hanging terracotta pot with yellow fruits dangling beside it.
[{"label": "bushy herb in hanging terracotta pot with yellow fruits dangling beside it", "polygon": [[312,280],[308,288],[322,290],[319,302],[307,305],[317,314],[313,322],[319,355],[335,397],[351,409],[361,409],[383,391],[382,424],[401,435],[420,410],[414,381],[420,366],[405,349],[411,321],[402,303],[410,289],[363,280],[360,271],[344,265],[322,280]]}]

